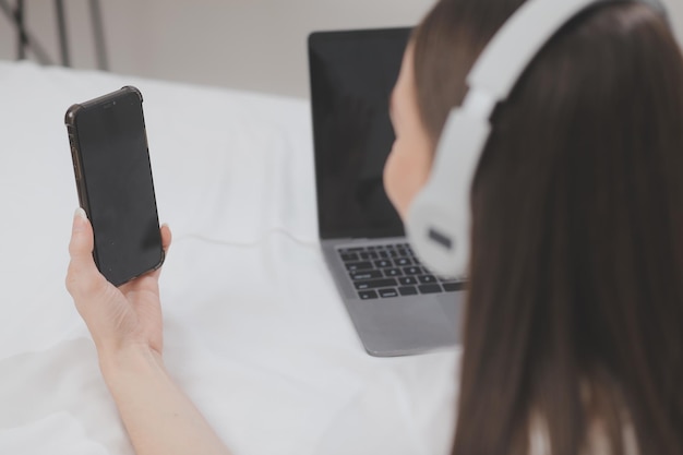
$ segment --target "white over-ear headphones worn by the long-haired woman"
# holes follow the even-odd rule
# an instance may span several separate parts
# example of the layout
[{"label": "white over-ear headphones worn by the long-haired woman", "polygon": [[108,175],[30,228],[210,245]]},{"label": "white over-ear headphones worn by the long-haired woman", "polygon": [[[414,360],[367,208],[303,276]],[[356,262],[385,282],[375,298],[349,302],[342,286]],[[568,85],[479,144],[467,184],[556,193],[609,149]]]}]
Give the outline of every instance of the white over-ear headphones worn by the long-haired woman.
[{"label": "white over-ear headphones worn by the long-haired woman", "polygon": [[467,272],[470,242],[469,195],[490,118],[531,60],[570,20],[588,8],[639,2],[667,19],[658,0],[529,0],[496,32],[467,75],[469,91],[446,120],[429,181],[412,202],[406,232],[424,265],[438,275]]}]

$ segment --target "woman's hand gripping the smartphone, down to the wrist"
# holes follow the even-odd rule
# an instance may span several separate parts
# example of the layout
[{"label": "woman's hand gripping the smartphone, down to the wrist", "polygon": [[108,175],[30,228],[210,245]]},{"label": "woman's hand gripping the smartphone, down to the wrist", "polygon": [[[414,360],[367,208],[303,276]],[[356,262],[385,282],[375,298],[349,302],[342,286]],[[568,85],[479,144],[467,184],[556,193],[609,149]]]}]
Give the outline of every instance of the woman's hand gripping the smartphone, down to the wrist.
[{"label": "woman's hand gripping the smartphone, down to the wrist", "polygon": [[[170,242],[170,229],[163,226],[165,251]],[[135,346],[152,349],[160,356],[164,348],[158,287],[160,270],[117,288],[97,270],[93,246],[93,227],[85,212],[79,208],[69,244],[71,262],[67,289],[91,331],[100,361]]]}]

